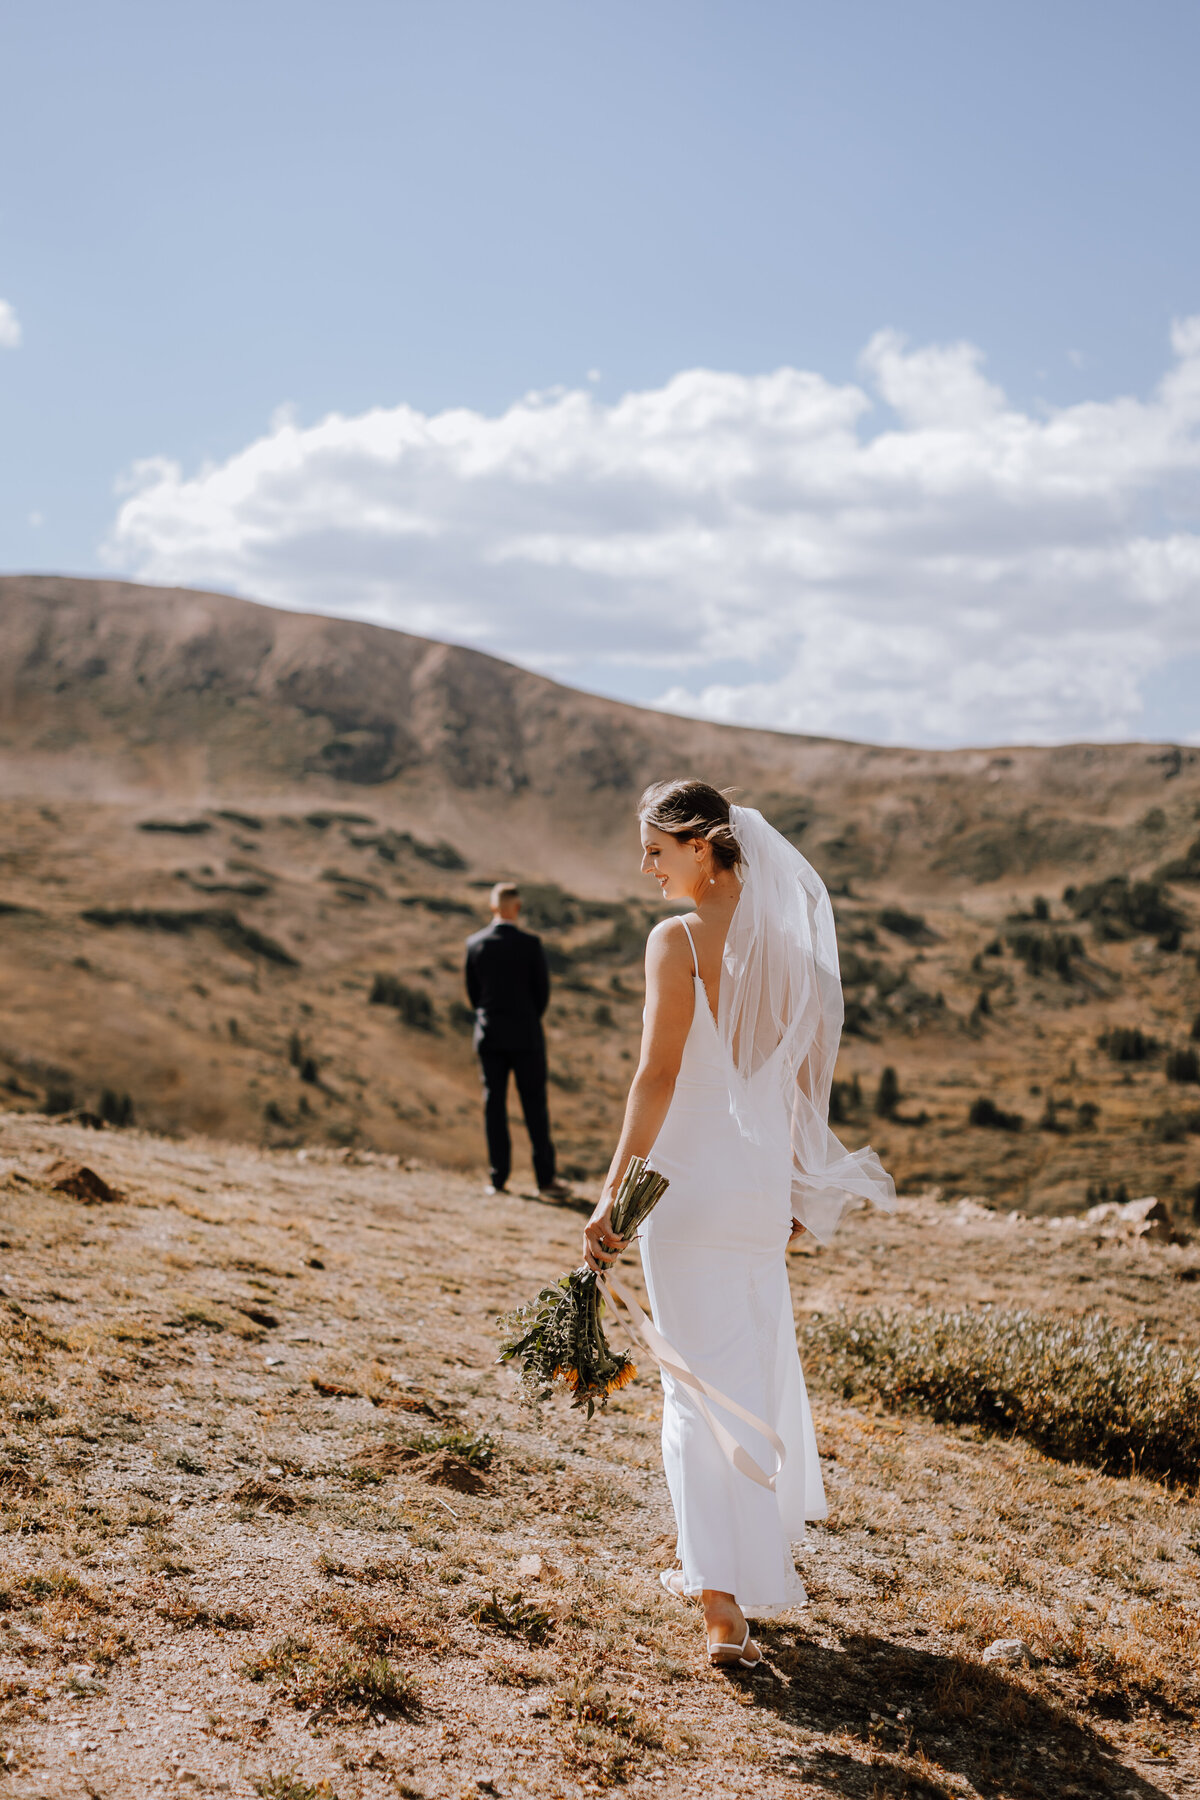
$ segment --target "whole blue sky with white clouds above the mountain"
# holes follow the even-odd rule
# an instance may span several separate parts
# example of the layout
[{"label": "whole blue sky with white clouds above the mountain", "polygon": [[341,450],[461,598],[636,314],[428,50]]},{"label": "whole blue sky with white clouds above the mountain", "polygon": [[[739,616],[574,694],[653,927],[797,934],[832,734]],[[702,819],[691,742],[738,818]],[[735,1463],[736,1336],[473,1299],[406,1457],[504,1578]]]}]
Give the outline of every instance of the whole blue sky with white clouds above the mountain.
[{"label": "whole blue sky with white clouds above the mountain", "polygon": [[1200,743],[1191,0],[5,0],[0,571]]}]

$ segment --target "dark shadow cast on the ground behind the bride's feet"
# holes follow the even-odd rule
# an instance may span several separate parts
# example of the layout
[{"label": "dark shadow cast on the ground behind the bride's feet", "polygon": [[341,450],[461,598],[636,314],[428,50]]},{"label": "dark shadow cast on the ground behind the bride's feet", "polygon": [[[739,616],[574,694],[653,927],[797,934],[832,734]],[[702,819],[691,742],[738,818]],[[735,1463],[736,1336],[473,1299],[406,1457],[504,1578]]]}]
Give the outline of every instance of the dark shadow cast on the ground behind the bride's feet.
[{"label": "dark shadow cast on the ground behind the bride's feet", "polygon": [[781,1759],[829,1793],[952,1800],[946,1777],[957,1775],[997,1800],[1166,1796],[1087,1724],[997,1669],[865,1634],[828,1649],[766,1624],[756,1629],[770,1669],[736,1678],[747,1703],[869,1750],[867,1762],[828,1748]]}]

